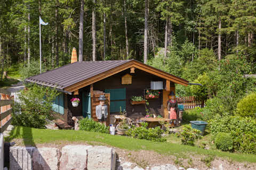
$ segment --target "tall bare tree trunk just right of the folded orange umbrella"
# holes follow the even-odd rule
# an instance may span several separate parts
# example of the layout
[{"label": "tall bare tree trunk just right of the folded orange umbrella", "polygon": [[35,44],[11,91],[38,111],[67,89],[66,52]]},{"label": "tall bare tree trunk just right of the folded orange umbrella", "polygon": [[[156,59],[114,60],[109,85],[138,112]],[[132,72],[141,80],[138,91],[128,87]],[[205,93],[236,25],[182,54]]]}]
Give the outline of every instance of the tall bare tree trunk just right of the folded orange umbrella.
[{"label": "tall bare tree trunk just right of the folded orange umbrella", "polygon": [[84,35],[84,0],[81,0],[81,10],[80,10],[80,22],[79,22],[79,58],[78,61],[83,61],[83,35]]}]

